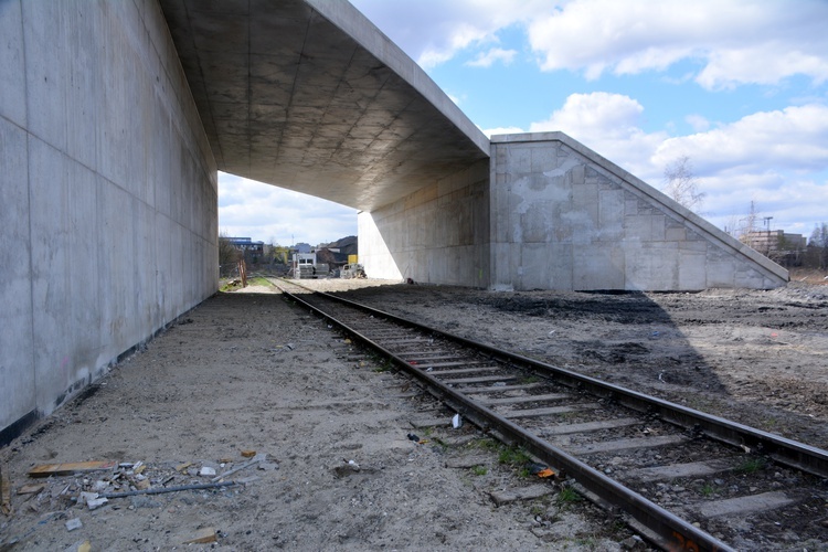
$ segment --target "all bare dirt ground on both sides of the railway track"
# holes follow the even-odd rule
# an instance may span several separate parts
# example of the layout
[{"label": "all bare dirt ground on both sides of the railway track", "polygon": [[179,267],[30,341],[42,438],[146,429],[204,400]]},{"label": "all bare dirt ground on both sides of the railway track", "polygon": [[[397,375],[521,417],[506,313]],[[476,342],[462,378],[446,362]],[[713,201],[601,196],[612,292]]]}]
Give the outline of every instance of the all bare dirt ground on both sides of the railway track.
[{"label": "all bare dirt ground on both sides of the railway track", "polygon": [[[374,280],[327,290],[828,447],[828,287],[598,295]],[[0,550],[626,550],[626,529],[521,478],[474,427],[269,288],[219,294],[0,450]],[[258,291],[258,294],[256,293]],[[417,432],[427,443],[408,434]],[[242,453],[258,456],[245,457]],[[50,479],[44,464],[112,460]],[[142,466],[136,463],[142,463]],[[81,491],[237,485],[110,498]],[[354,465],[355,464],[355,465]],[[208,468],[206,470],[204,468]],[[144,481],[149,482],[144,482]],[[34,492],[24,486],[42,484]],[[546,485],[497,506],[492,492]],[[93,501],[92,505],[95,502]],[[82,524],[70,530],[72,524]],[[67,527],[68,523],[68,527]],[[198,537],[212,540],[190,543]]]}]

